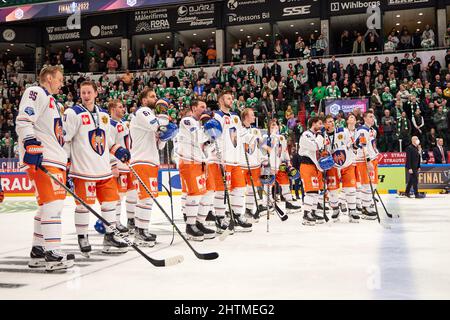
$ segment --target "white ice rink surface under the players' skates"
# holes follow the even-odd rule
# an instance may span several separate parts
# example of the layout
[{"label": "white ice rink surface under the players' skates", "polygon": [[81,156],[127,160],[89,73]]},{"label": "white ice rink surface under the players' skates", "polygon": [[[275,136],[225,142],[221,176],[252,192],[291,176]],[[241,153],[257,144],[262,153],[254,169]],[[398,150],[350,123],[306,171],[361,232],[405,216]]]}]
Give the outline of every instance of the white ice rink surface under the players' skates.
[{"label": "white ice rink surface under the players' skates", "polygon": [[[197,259],[155,210],[151,231],[158,244],[151,257],[182,254],[184,262],[156,268],[133,249],[122,256],[101,254],[102,238],[91,216],[90,261],[78,254],[73,199],[63,214],[64,250],[74,252],[76,267],[63,274],[28,269],[33,228],[33,198],[7,198],[0,205],[1,299],[449,299],[450,197],[423,200],[383,196],[401,218],[306,227],[300,214],[286,222],[270,216],[251,233],[193,243],[200,252],[217,251],[213,261]],[[179,197],[175,216],[180,229]],[[158,201],[170,214],[168,197]],[[283,205],[281,205],[283,207]],[[96,206],[97,208],[97,206]],[[125,220],[125,216],[123,216]],[[125,221],[124,221],[125,222]]]}]

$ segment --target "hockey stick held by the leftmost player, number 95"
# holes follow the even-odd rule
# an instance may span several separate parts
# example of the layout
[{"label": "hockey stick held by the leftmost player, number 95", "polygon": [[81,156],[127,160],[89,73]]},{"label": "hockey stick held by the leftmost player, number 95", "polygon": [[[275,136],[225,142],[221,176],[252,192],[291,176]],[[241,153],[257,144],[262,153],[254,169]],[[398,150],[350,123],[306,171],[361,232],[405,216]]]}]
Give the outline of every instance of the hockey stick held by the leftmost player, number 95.
[{"label": "hockey stick held by the leftmost player, number 95", "polygon": [[98,214],[94,209],[92,209],[92,207],[90,205],[88,205],[80,197],[78,197],[74,192],[72,192],[72,190],[70,190],[64,183],[59,181],[59,179],[56,178],[53,174],[51,174],[45,167],[40,166],[39,169],[41,169],[47,176],[50,177],[50,179],[52,179],[54,182],[56,182],[60,187],[64,188],[64,190],[66,190],[69,194],[71,194],[79,203],[81,203],[86,209],[88,209],[92,214],[94,214],[94,216],[96,216],[97,219],[100,219],[103,222],[103,224],[105,224],[106,226],[110,227],[115,236],[122,238],[126,242],[126,244],[128,246],[130,246],[134,250],[136,250],[141,256],[143,256],[147,261],[149,261],[155,267],[168,267],[168,266],[173,266],[173,265],[176,265],[176,264],[178,264],[180,262],[183,262],[184,257],[181,256],[181,255],[178,255],[178,256],[175,256],[175,257],[171,257],[171,258],[167,258],[167,259],[164,259],[164,260],[157,260],[157,259],[153,259],[153,258],[149,257],[141,249],[139,249],[138,246],[136,246],[133,242],[131,242],[128,239],[128,237],[123,236],[116,229],[115,226],[111,225],[108,221],[106,221],[106,219],[103,218],[100,214]]}]

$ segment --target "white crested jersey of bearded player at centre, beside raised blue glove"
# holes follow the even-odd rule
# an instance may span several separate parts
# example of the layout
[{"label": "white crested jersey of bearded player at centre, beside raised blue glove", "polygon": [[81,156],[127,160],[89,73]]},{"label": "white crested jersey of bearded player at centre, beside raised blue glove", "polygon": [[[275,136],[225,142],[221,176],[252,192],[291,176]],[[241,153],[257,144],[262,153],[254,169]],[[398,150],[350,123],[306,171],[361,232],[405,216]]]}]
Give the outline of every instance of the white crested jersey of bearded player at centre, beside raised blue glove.
[{"label": "white crested jersey of bearded player at centre, beside raised blue glove", "polygon": [[[227,114],[219,110],[214,113],[214,118],[222,125],[222,135],[216,140],[222,163],[241,166],[242,145],[251,144],[255,137],[247,130],[243,130],[241,119],[236,114]],[[213,152],[210,161],[219,163],[217,150]]]}]

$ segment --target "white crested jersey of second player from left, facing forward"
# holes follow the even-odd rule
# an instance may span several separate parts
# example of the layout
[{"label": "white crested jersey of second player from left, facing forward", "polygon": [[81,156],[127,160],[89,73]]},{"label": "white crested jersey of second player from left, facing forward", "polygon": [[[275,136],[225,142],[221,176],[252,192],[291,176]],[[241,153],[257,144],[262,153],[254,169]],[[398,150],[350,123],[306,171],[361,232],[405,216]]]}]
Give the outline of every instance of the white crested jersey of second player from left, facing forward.
[{"label": "white crested jersey of second player from left, facing forward", "polygon": [[84,180],[105,180],[112,177],[109,115],[95,106],[91,113],[82,105],[64,113],[64,138],[71,159],[69,176]]}]

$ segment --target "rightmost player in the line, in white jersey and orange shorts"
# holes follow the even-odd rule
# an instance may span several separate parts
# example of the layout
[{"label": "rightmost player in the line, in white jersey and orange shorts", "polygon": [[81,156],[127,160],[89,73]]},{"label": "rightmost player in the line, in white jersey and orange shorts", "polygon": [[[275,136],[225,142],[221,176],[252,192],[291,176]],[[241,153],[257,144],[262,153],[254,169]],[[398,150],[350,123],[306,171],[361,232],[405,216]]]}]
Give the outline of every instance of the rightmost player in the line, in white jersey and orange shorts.
[{"label": "rightmost player in the line, in white jersey and orange shorts", "polygon": [[[367,111],[363,115],[364,125],[360,126],[356,132],[355,146],[358,147],[356,154],[356,168],[361,179],[361,202],[362,218],[375,220],[377,214],[371,207],[372,191],[370,182],[374,190],[378,184],[378,149],[376,146],[377,132],[373,128],[375,116],[373,112]],[[369,180],[370,179],[370,180]]]}]

